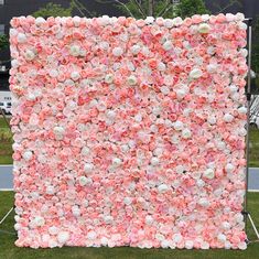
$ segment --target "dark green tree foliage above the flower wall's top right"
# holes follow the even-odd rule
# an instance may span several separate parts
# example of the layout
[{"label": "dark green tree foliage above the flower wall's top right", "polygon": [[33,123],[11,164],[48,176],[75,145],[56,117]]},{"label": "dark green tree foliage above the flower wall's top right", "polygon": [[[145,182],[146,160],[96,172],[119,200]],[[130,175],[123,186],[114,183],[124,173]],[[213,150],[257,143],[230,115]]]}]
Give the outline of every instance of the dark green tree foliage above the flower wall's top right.
[{"label": "dark green tree foliage above the flower wall's top right", "polygon": [[192,17],[193,14],[209,13],[204,0],[181,0],[177,7],[176,15],[181,18]]}]

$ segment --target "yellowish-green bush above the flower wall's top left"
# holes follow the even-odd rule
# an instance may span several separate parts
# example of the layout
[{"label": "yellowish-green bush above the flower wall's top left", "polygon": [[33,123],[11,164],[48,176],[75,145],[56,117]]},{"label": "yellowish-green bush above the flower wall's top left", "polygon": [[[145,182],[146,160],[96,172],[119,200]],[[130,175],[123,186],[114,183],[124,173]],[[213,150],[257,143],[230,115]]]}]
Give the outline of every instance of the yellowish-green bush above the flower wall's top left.
[{"label": "yellowish-green bush above the flower wall's top left", "polygon": [[33,12],[32,15],[37,17],[71,17],[73,8],[63,8],[61,4],[48,2],[45,7],[40,8],[37,11]]}]

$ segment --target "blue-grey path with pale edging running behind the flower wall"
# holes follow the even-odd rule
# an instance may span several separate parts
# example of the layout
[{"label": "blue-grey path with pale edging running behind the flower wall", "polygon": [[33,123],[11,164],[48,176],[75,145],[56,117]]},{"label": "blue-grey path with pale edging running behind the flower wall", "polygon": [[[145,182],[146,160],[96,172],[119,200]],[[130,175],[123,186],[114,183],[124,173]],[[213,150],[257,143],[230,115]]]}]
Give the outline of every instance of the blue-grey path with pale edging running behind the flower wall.
[{"label": "blue-grey path with pale edging running behind the flower wall", "polygon": [[[11,191],[12,180],[12,165],[0,165],[0,191]],[[248,190],[259,192],[259,168],[249,169]]]}]

